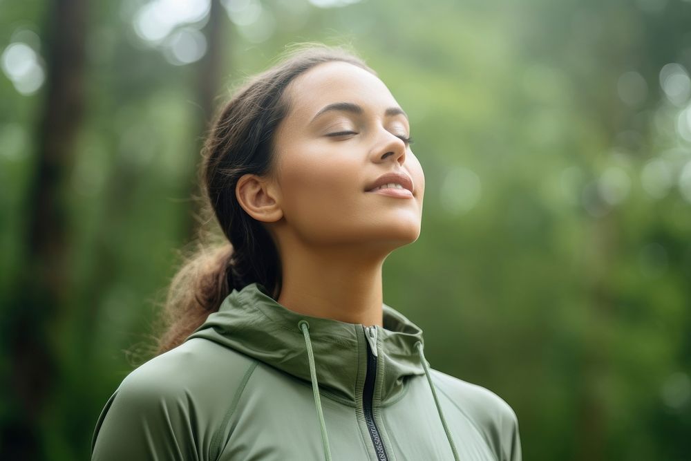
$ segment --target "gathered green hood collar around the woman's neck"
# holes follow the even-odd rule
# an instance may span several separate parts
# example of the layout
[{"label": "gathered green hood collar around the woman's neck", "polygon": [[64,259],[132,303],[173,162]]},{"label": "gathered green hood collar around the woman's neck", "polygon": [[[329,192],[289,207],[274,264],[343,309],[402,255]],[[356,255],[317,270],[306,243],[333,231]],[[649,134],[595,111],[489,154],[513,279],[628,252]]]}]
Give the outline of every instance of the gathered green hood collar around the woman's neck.
[{"label": "gathered green hood collar around the woman's neck", "polygon": [[[377,392],[375,404],[397,400],[408,377],[424,375],[415,347],[424,344],[422,330],[383,303],[384,328],[377,326]],[[309,323],[316,377],[327,396],[359,404],[367,371],[363,325],[299,314],[267,294],[259,283],[233,290],[187,339],[202,337],[278,368],[307,384],[310,364],[299,322]]]}]

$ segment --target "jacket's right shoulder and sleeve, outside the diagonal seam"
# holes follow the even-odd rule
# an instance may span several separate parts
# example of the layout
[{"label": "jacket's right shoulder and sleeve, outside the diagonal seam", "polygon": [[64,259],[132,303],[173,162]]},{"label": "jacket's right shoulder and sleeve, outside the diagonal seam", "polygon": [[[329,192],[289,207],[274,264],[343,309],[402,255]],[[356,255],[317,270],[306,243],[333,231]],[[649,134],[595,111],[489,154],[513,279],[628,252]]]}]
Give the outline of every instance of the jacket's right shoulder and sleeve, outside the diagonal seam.
[{"label": "jacket's right shoulder and sleeve, outside the diagonal seam", "polygon": [[520,460],[518,416],[502,397],[477,384],[431,370],[435,384],[477,427],[499,460]]}]

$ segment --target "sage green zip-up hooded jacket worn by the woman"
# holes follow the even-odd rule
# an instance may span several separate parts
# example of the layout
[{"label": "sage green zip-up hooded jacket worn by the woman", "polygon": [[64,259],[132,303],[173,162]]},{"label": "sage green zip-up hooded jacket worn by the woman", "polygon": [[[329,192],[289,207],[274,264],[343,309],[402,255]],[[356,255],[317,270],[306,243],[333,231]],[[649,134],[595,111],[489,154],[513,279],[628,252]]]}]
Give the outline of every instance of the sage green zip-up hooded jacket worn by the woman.
[{"label": "sage green zip-up hooded jacket worn by the woman", "polygon": [[92,460],[521,460],[495,393],[429,368],[422,330],[297,314],[257,283],[126,376]]}]

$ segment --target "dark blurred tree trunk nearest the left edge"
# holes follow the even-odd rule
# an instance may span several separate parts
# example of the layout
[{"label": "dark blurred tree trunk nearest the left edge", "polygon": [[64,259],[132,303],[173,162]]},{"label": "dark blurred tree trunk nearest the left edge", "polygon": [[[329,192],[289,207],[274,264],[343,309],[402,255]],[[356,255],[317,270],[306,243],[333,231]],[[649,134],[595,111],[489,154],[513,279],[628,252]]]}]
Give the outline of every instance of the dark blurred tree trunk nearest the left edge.
[{"label": "dark blurred tree trunk nearest the left edge", "polygon": [[84,107],[87,4],[55,0],[45,18],[46,93],[36,129],[35,174],[28,188],[28,270],[12,287],[4,325],[15,398],[13,418],[3,421],[0,446],[9,459],[44,458],[41,418],[61,373],[50,334],[69,299],[69,227],[64,182],[75,156]]}]

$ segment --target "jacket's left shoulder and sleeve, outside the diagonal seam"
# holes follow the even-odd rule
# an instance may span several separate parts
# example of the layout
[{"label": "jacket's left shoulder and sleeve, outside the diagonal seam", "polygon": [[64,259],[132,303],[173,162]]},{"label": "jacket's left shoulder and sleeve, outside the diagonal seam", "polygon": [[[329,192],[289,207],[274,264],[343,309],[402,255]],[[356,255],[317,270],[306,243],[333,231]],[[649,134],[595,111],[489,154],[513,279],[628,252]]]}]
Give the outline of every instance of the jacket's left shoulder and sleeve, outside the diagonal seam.
[{"label": "jacket's left shoulder and sleeve, outside the diagonal seam", "polygon": [[221,429],[229,402],[254,366],[249,357],[202,338],[146,361],[106,402],[91,441],[93,459],[202,455],[208,446],[198,442]]}]

